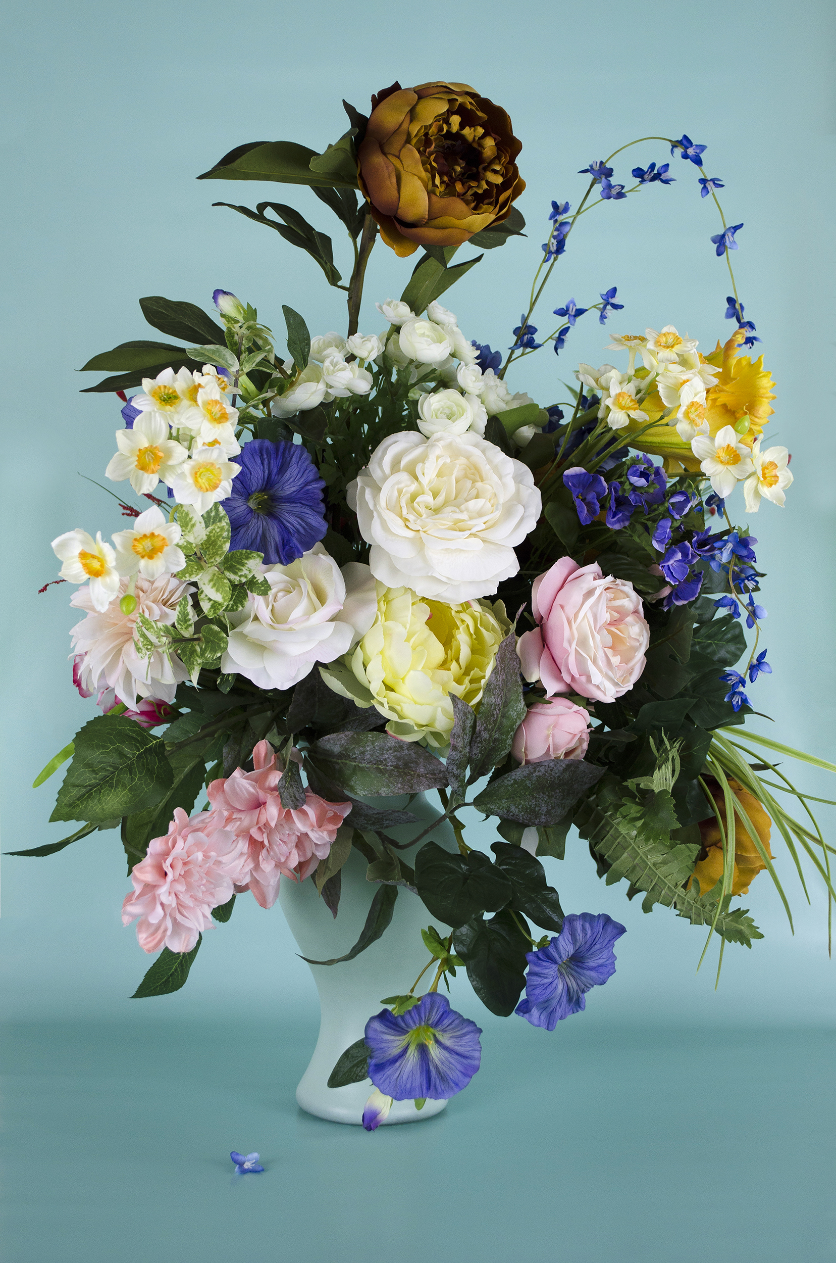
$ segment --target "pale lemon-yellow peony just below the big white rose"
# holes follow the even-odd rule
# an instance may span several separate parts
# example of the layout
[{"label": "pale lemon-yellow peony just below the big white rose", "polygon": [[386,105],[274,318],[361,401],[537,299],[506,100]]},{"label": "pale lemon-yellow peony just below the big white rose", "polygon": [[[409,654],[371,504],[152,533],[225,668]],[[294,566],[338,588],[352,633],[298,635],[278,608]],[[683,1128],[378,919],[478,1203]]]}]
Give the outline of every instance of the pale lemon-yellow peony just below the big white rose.
[{"label": "pale lemon-yellow peony just below the big white rose", "polygon": [[510,632],[501,601],[447,605],[378,582],[378,616],[351,653],[321,667],[336,693],[375,706],[386,731],[445,748],[455,693],[477,707],[496,650]]}]

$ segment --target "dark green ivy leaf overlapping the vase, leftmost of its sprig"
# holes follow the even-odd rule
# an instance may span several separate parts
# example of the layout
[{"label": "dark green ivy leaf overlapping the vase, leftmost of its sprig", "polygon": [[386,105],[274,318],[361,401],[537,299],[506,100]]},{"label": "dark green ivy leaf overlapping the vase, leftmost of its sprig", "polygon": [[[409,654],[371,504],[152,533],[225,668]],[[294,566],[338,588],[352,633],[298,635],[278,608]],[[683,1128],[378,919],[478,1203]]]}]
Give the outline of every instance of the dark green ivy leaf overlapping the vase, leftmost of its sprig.
[{"label": "dark green ivy leaf overlapping the vase, leftmost of its sprig", "polygon": [[510,882],[481,851],[457,855],[436,842],[424,842],[415,855],[415,885],[432,916],[453,927],[511,898]]}]

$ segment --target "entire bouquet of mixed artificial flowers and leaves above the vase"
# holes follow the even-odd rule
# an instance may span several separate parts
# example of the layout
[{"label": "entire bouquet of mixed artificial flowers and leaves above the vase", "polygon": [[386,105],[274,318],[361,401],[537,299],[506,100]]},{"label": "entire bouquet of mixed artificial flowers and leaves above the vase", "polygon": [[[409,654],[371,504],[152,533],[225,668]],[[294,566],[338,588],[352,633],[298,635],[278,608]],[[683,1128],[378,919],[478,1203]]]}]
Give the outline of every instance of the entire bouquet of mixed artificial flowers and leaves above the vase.
[{"label": "entire bouquet of mixed artificial flowers and leaves above the vase", "polygon": [[[508,114],[445,82],[394,83],[369,116],[343,105],[349,126],[325,153],[244,144],[198,178],[308,186],[347,232],[347,284],[331,239],[293,207],[216,205],[307,251],[346,294],[345,335],[312,336],[288,306],[277,335],[224,289],[211,314],[148,297],[145,320],[174,342],[124,342],[85,365],[115,374],[88,389],[120,400],[105,470],[120,529],[52,547],[61,580],[80,585],[73,683],[101,714],[35,782],[71,760],[52,820],[78,827],[14,854],[115,831],[124,923],[159,954],[141,998],[183,985],[201,935],[245,892],[266,909],[280,880],[307,880],[338,917],[359,851],[369,916],[349,957],[385,933],[397,899],[427,911],[424,971],[369,1014],[330,1080],[371,1080],[373,1130],[393,1099],[446,1099],[477,1071],[480,1028],[447,999],[457,969],[493,1013],[548,1031],[615,971],[624,926],[566,913],[540,863],[563,858],[572,826],[601,878],[702,927],[703,956],[716,936],[722,960],[726,943],[761,937],[739,902],[761,871],[789,914],[777,844],[802,885],[806,859],[832,898],[832,847],[773,760],[836,768],[745,729],[772,666],[743,523],[783,506],[793,475],[764,436],[773,381],[731,269],[743,225],[726,224],[706,147],[633,141],[669,158],[631,179],[628,145],[590,162],[580,202],[543,212],[500,351],[439,299],[485,254],[524,249]],[[674,171],[717,217],[734,332],[714,350],[663,323],[672,312],[612,335],[615,285],[581,307],[552,278],[582,216],[674,196],[660,189]],[[400,297],[367,308],[376,332],[361,332],[378,242]],[[548,407],[511,390],[519,361],[566,357],[595,316],[615,364],[581,364]],[[433,823],[413,829],[409,863],[391,832],[414,825],[419,793],[437,796],[457,849],[433,841]],[[467,837],[465,807],[490,820],[490,854]]]}]

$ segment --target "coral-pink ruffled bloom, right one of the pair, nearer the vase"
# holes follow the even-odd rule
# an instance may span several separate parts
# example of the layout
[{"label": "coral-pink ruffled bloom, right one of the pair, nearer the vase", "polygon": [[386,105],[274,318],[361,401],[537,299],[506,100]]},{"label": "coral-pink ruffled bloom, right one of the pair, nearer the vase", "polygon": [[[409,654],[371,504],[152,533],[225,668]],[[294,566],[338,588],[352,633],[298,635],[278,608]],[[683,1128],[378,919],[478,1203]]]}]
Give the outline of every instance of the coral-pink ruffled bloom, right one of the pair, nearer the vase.
[{"label": "coral-pink ruffled bloom, right one of the pair, nearer the vase", "polygon": [[269,741],[255,746],[253,765],[253,772],[236,768],[212,781],[208,798],[218,825],[244,845],[235,889],[251,890],[256,903],[272,908],[283,873],[301,882],[327,856],[351,803],[326,802],[306,789],[303,807],[283,807],[277,792],[282,768]]}]

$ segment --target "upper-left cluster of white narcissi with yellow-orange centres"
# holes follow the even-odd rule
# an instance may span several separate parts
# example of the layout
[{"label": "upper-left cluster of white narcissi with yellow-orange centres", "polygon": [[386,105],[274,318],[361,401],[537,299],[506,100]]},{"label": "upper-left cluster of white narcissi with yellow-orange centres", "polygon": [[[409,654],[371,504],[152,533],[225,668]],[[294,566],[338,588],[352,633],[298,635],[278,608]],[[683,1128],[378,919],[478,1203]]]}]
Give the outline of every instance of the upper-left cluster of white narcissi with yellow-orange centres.
[{"label": "upper-left cluster of white narcissi with yellow-orange centres", "polygon": [[105,470],[107,477],[128,479],[139,495],[164,482],[198,513],[225,500],[239,474],[230,457],[241,451],[237,408],[227,399],[231,389],[210,364],[201,373],[163,369],[157,378],[143,378],[140,394],[130,399],[140,416],[131,429],[116,431],[119,451]]}]

